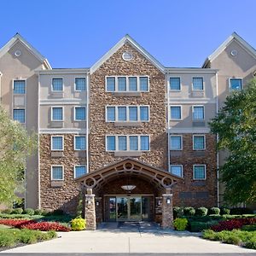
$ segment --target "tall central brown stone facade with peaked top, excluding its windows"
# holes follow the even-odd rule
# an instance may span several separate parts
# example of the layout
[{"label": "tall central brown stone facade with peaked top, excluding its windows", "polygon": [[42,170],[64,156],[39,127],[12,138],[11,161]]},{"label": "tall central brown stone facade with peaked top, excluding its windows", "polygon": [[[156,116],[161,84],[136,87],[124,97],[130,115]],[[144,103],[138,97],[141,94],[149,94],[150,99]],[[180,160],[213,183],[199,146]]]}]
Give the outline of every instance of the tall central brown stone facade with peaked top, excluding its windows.
[{"label": "tall central brown stone facade with peaked top, excluding its windows", "polygon": [[[124,61],[123,53],[132,53],[131,61]],[[105,91],[106,76],[149,76],[149,92],[142,96],[115,96]],[[149,122],[141,127],[115,127],[105,120],[107,105],[149,105]],[[148,134],[150,135],[150,152],[138,156],[138,160],[162,169],[167,168],[166,137],[166,82],[165,75],[141,55],[131,44],[124,44],[90,77],[90,172],[121,160],[113,153],[106,152],[105,136],[113,134]]]}]

